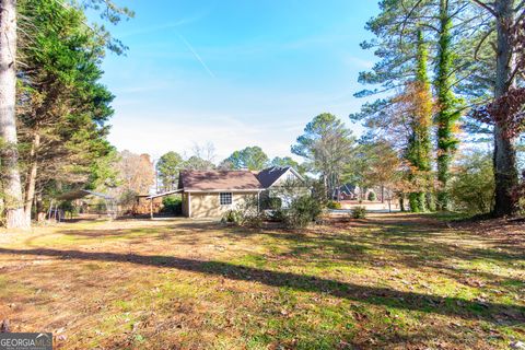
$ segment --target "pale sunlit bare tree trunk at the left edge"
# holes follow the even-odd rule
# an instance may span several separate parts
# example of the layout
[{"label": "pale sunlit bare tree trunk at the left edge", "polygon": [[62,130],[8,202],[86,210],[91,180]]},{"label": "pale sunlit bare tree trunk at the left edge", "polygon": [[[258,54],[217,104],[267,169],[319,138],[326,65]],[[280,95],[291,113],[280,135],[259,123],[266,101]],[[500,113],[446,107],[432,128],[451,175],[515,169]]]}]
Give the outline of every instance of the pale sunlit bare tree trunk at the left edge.
[{"label": "pale sunlit bare tree trunk at the left edge", "polygon": [[27,229],[19,172],[16,139],[16,0],[0,0],[0,138],[2,185],[8,229]]}]

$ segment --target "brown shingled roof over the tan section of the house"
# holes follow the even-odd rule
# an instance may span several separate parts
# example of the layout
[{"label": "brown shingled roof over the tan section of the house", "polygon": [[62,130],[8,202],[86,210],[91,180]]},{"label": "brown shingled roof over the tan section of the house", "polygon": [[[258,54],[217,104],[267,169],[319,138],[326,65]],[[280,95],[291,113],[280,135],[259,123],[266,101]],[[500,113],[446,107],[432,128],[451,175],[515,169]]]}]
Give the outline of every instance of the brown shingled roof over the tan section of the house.
[{"label": "brown shingled roof over the tan section of the house", "polygon": [[262,189],[255,174],[248,171],[182,171],[178,188],[185,191]]}]

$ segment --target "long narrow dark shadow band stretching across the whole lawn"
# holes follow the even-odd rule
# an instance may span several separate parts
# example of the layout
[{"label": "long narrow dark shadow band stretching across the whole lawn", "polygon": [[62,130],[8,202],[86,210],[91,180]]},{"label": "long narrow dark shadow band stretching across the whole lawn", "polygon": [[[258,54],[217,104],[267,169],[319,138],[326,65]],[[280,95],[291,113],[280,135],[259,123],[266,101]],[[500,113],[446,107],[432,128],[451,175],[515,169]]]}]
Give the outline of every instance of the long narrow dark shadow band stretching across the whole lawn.
[{"label": "long narrow dark shadow band stretching across the whole lawn", "polygon": [[88,253],[59,249],[8,249],[0,248],[2,255],[51,256],[61,259],[85,261],[128,262],[160,268],[175,268],[184,271],[222,276],[232,280],[254,281],[270,287],[287,287],[298,291],[325,293],[336,298],[358,301],[366,304],[392,306],[420,311],[467,319],[499,322],[511,324],[525,322],[525,306],[505,305],[491,302],[478,303],[460,298],[443,298],[415,292],[397,291],[389,288],[365,287],[354,283],[305,276],[291,272],[271,271],[243,267],[222,261],[203,261],[172,256],[144,256],[137,254]]}]

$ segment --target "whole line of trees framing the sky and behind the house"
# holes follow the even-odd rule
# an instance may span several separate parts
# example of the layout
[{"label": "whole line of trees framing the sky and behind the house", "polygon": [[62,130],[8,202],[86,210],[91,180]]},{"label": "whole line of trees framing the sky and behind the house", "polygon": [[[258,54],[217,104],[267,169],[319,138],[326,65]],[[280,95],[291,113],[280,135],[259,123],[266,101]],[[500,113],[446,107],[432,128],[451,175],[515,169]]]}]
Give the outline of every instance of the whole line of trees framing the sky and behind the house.
[{"label": "whole line of trees framing the sky and behind the house", "polygon": [[[190,156],[167,152],[155,165],[107,141],[114,96],[100,82],[101,62],[126,46],[90,25],[84,11],[114,24],[133,13],[109,0],[0,5],[0,218],[8,228],[27,228],[56,194],[96,188],[129,199],[155,182],[159,191],[176,188],[184,168],[293,166],[318,178],[327,199],[339,198],[346,183],[380,186],[415,212],[523,209],[523,1],[380,1],[366,23],[374,38],[362,43],[378,61],[359,75],[371,88],[355,94],[377,98],[350,115],[366,128],[359,139],[325,113],[291,147],[301,163],[249,145],[215,164],[208,143]],[[459,152],[462,143],[480,149],[476,142],[487,140],[491,159]]]}]

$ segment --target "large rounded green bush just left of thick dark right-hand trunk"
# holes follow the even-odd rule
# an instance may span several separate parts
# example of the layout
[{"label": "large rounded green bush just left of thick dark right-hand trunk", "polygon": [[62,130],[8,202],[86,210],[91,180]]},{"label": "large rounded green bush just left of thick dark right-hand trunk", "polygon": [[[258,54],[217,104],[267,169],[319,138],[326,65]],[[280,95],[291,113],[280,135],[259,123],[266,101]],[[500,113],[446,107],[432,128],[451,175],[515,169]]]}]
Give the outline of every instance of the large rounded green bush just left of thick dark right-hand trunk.
[{"label": "large rounded green bush just left of thick dark right-hand trunk", "polygon": [[469,214],[483,214],[492,210],[494,175],[489,154],[475,152],[457,166],[451,187],[454,210]]}]

